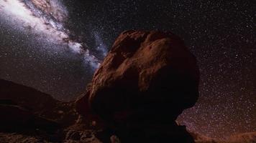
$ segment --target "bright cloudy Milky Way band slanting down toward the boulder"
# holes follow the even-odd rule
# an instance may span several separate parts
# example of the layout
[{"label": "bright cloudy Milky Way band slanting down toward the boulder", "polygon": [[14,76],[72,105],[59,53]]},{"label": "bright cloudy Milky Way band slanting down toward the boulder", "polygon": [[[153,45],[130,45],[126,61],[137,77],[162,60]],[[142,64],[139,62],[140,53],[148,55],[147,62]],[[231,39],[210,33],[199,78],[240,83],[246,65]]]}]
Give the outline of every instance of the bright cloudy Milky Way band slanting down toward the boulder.
[{"label": "bright cloudy Milky Way band slanting down toward the boulder", "polygon": [[[62,44],[71,51],[84,56],[86,63],[93,69],[99,66],[99,60],[90,54],[86,44],[70,39],[69,30],[64,28],[68,11],[58,0],[4,0],[0,1],[1,19],[12,22],[19,30],[31,30],[40,34],[41,40]],[[101,49],[106,53],[106,49]]]}]

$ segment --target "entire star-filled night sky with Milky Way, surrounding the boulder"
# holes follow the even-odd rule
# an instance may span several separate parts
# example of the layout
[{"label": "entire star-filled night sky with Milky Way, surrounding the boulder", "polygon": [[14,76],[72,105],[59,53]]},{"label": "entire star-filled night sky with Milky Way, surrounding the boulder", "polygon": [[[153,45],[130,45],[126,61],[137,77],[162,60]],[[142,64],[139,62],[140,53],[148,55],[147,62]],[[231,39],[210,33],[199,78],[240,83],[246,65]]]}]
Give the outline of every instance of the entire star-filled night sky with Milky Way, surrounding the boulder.
[{"label": "entire star-filled night sky with Milky Way, surrounding the boulder", "polygon": [[172,31],[201,71],[198,102],[178,122],[208,137],[254,132],[255,9],[249,0],[1,0],[0,78],[72,100],[122,31]]}]

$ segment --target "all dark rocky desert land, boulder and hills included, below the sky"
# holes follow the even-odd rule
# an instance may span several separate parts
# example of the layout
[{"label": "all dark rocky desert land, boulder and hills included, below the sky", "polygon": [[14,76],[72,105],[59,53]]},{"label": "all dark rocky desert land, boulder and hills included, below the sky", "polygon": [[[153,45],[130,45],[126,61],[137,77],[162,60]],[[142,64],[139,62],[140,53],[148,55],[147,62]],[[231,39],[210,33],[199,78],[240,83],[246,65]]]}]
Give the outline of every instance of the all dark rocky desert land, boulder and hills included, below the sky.
[{"label": "all dark rocky desert land, boulder and hills included, below the sky", "polygon": [[170,32],[124,31],[76,102],[0,79],[0,142],[254,143],[175,122],[198,99],[196,57]]}]

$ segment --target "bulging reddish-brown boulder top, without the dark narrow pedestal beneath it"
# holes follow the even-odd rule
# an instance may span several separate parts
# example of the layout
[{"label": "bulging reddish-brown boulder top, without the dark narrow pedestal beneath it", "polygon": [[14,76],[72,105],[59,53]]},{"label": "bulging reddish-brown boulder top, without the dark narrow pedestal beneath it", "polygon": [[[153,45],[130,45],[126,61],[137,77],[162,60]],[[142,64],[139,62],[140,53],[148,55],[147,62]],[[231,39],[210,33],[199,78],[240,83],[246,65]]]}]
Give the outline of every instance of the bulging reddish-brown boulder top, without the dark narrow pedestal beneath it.
[{"label": "bulging reddish-brown boulder top, without the dark narrow pedestal beneath it", "polygon": [[[198,98],[196,59],[178,36],[158,31],[126,31],[96,71],[85,103],[102,115],[122,118],[144,109],[175,119]],[[145,112],[145,111],[143,111]],[[166,116],[165,114],[165,116]],[[125,117],[124,117],[125,118]]]}]

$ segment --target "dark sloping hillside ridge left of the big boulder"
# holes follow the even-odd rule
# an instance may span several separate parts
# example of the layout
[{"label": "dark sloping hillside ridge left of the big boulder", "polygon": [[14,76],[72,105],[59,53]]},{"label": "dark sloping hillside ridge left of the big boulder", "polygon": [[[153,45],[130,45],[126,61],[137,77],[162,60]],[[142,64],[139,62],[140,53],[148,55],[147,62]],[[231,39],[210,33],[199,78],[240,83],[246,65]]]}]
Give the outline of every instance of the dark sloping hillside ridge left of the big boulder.
[{"label": "dark sloping hillside ridge left of the big boulder", "polygon": [[70,103],[59,102],[49,94],[4,79],[0,79],[0,104],[5,107],[17,106],[22,111],[55,120],[61,124],[71,124],[76,118],[71,112]]}]

